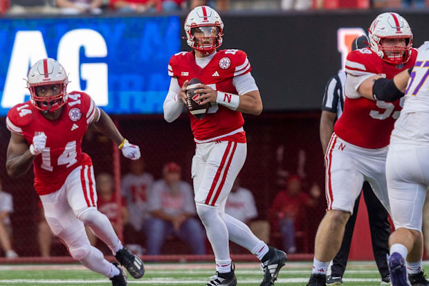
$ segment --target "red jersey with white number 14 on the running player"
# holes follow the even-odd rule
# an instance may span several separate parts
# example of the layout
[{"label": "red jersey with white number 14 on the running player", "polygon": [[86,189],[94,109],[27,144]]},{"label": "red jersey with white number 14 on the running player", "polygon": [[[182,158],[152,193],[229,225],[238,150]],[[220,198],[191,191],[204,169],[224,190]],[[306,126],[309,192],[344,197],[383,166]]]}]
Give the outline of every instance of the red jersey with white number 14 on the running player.
[{"label": "red jersey with white number 14 on the running player", "polygon": [[36,134],[43,132],[46,135],[46,148],[33,161],[37,194],[54,193],[76,167],[92,165],[81,145],[95,114],[94,101],[86,93],[78,91],[69,93],[57,120],[45,118],[30,101],[15,105],[8,111],[6,126],[10,132],[24,136],[28,145],[33,143]]}]

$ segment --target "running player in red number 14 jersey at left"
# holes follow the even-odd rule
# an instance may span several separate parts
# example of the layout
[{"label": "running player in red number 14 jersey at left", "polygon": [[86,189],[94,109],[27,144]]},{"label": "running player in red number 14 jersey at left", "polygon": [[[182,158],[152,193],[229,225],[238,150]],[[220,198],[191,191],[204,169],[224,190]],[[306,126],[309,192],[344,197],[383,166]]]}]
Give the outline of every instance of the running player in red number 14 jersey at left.
[{"label": "running player in red number 14 jersey at left", "polygon": [[127,285],[122,268],[91,247],[85,233],[84,224],[109,246],[134,278],[143,276],[142,260],[122,247],[109,219],[97,210],[93,166],[81,144],[92,124],[118,144],[128,159],[138,159],[140,149],[120,134],[86,93],[67,93],[68,82],[62,65],[51,58],[39,60],[30,68],[30,100],[12,107],[6,118],[11,133],[6,169],[10,177],[19,177],[33,164],[35,190],[52,232],[75,260],[109,277],[115,286]]}]

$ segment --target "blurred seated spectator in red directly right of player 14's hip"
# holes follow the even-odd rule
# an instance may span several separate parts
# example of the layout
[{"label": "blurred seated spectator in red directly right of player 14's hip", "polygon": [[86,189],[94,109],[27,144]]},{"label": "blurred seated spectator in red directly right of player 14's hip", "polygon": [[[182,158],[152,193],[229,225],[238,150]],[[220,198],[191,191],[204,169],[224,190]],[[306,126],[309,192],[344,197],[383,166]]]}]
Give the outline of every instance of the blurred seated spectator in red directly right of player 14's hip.
[{"label": "blurred seated spectator in red directly right of player 14's hip", "polygon": [[[97,208],[100,213],[104,213],[111,222],[111,226],[116,233],[118,233],[118,213],[120,212],[122,224],[128,222],[128,210],[125,206],[125,199],[122,199],[122,204],[120,211],[118,211],[119,204],[116,201],[115,195],[115,184],[113,177],[107,173],[100,173],[97,176],[96,184],[97,186]],[[92,245],[95,245],[97,242],[97,237],[93,231],[86,230],[89,241]]]}]

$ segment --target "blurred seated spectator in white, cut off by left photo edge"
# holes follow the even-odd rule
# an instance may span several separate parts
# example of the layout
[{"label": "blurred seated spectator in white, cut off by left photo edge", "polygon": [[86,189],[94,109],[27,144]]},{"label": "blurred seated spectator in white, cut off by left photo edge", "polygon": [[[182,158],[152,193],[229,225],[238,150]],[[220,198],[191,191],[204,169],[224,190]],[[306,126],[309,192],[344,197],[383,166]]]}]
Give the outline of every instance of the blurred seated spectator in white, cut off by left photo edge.
[{"label": "blurred seated spectator in white, cut off by left photo edge", "polygon": [[0,247],[3,249],[6,258],[17,258],[18,255],[12,249],[10,242],[10,236],[12,235],[10,213],[13,213],[12,195],[3,192],[0,183]]}]

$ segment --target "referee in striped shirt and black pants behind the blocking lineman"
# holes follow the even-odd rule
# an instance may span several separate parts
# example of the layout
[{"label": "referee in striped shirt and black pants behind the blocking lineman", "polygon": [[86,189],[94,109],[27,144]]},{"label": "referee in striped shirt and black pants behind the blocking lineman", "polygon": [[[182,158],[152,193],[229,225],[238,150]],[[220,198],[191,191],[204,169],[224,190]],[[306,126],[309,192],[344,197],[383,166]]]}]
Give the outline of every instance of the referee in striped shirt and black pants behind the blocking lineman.
[{"label": "referee in striped shirt and black pants behind the blocking lineman", "polygon": [[[352,43],[352,51],[368,46],[368,39],[365,35],[356,37]],[[322,104],[322,116],[320,117],[320,142],[323,153],[326,153],[327,145],[334,132],[334,123],[343,113],[345,100],[345,71],[341,71],[329,80],[325,88]],[[387,268],[386,254],[389,253],[390,223],[389,214],[377,197],[374,195],[371,186],[365,181],[363,184],[363,197],[367,205],[369,217],[369,229],[371,230],[372,250],[381,274],[381,285],[390,285],[389,269]],[[353,215],[345,225],[343,243],[334,260],[327,271],[327,285],[343,285],[343,274],[349,258],[350,244],[354,224],[358,215],[360,195],[354,204]]]}]

